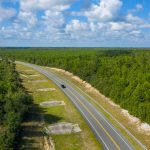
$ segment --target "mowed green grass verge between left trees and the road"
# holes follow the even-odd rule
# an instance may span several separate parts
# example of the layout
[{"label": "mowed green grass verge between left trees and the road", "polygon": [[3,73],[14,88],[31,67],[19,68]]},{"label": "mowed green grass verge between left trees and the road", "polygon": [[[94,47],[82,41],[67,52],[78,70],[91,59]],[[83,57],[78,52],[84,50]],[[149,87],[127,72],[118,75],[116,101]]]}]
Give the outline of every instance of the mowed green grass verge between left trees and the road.
[{"label": "mowed green grass verge between left trees and the road", "polygon": [[[56,150],[100,150],[93,132],[64,93],[49,79],[32,68],[17,64],[17,70],[23,85],[33,96],[33,108],[22,125],[22,142],[20,149],[43,149],[43,121],[45,125],[59,122],[78,123],[82,132],[66,135],[53,135]],[[25,75],[25,76],[24,76]],[[31,76],[38,75],[38,76]],[[46,80],[46,82],[34,82]],[[55,88],[55,91],[39,92],[37,89]],[[44,101],[64,101],[65,106],[41,107]],[[44,120],[43,120],[44,118]]]}]

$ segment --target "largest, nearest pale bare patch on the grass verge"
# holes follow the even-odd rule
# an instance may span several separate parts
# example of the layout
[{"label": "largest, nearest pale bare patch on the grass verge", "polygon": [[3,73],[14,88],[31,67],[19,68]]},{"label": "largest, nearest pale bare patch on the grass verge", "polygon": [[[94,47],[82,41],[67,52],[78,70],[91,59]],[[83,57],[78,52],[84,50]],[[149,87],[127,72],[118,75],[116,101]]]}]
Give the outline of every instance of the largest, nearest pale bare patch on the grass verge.
[{"label": "largest, nearest pale bare patch on the grass verge", "polygon": [[59,123],[46,128],[47,134],[71,134],[81,132],[78,124]]}]

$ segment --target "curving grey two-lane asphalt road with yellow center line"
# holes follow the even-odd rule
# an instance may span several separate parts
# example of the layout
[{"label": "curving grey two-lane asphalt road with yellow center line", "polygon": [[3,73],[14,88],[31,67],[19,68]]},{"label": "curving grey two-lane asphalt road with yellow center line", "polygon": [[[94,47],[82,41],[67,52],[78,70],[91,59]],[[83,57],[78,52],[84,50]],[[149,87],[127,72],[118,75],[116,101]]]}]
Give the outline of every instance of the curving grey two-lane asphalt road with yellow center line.
[{"label": "curving grey two-lane asphalt road with yellow center line", "polygon": [[[50,71],[46,71],[40,66],[17,62],[19,64],[31,67],[47,78],[52,80],[61,90],[68,96],[71,102],[79,110],[83,118],[94,132],[97,140],[103,145],[105,150],[133,150],[133,146],[123,135],[109,122],[109,120],[86,99],[81,93],[73,88],[68,82],[54,75]],[[62,88],[62,84],[66,88]],[[88,142],[88,141],[87,141]],[[145,149],[144,147],[141,149]]]}]

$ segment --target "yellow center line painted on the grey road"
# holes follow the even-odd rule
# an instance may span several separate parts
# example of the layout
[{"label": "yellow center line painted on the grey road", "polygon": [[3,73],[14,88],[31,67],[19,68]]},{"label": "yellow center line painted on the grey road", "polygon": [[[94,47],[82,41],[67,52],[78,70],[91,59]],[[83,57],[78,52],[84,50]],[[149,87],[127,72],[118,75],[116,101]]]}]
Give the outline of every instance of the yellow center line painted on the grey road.
[{"label": "yellow center line painted on the grey road", "polygon": [[68,90],[73,96],[75,96],[78,99],[79,103],[89,112],[89,114],[94,118],[94,120],[98,123],[98,125],[105,131],[105,133],[108,135],[108,137],[111,139],[111,141],[115,144],[117,149],[120,150],[119,145],[111,137],[111,135],[107,132],[107,130],[103,127],[103,125],[97,120],[97,118],[93,115],[93,113],[81,102],[81,100],[70,89],[68,89]]}]

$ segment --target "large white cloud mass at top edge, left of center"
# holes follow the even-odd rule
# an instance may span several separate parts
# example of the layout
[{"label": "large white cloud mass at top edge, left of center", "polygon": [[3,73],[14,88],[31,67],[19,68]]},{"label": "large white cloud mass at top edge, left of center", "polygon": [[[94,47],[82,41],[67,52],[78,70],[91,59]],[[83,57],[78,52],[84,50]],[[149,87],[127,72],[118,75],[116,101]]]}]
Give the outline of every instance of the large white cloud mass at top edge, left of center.
[{"label": "large white cloud mass at top edge, left of center", "polygon": [[[75,0],[20,0],[20,12],[14,26],[21,28],[26,25],[28,30],[38,27],[41,31],[36,31],[37,36],[61,34],[62,26],[65,25],[63,11],[70,8],[73,1]],[[40,18],[38,11],[44,13]]]}]

